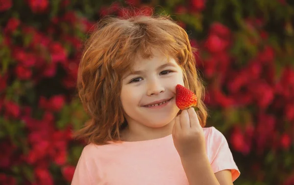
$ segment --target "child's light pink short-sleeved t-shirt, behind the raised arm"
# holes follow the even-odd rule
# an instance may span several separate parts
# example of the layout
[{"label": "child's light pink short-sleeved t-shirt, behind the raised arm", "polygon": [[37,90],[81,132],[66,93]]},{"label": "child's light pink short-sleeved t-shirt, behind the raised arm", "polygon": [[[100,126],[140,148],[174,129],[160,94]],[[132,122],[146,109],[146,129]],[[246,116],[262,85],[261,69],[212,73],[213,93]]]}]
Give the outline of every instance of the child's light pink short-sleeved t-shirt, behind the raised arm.
[{"label": "child's light pink short-sleeved t-shirt, behind the raised arm", "polygon": [[[240,171],[225,137],[215,127],[203,128],[207,157],[214,173]],[[84,147],[72,185],[189,185],[172,135],[147,141]]]}]

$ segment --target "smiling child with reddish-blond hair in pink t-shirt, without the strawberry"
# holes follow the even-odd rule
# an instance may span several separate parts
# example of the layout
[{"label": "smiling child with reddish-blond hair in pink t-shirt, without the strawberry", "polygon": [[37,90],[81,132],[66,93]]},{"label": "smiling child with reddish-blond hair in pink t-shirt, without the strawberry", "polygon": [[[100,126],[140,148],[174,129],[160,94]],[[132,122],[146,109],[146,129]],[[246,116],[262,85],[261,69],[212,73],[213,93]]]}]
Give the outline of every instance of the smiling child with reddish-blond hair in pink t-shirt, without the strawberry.
[{"label": "smiling child with reddish-blond hair in pink t-shirt, without the strawberry", "polygon": [[[180,112],[175,86],[198,98]],[[107,18],[86,42],[79,96],[91,121],[72,185],[232,185],[240,175],[207,112],[184,29],[168,17]],[[202,128],[203,127],[203,128]]]}]

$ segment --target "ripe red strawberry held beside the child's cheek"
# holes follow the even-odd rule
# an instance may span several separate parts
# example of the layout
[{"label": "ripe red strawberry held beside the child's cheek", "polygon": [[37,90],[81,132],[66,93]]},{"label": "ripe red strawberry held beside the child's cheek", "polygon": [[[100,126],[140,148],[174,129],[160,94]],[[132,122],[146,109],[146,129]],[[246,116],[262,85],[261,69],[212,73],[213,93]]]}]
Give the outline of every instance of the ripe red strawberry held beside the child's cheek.
[{"label": "ripe red strawberry held beside the child's cheek", "polygon": [[197,105],[197,97],[190,89],[177,84],[175,87],[175,104],[179,109],[185,110]]}]

